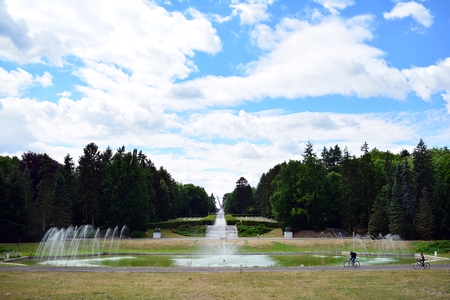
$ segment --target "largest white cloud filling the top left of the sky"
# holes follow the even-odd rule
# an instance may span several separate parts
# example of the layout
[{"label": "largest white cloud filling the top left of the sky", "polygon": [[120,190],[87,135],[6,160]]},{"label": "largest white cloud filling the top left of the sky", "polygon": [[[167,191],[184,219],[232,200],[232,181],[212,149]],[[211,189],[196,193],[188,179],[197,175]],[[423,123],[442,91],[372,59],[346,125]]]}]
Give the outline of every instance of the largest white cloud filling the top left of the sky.
[{"label": "largest white cloud filling the top left of the sky", "polygon": [[[214,54],[221,42],[200,12],[168,12],[150,2],[8,1],[13,19],[26,20],[31,45],[25,50],[0,37],[0,56],[19,63],[63,65],[73,55],[82,61],[113,63],[132,80],[160,86],[186,78],[195,51]],[[25,22],[25,21],[24,21]]]}]

